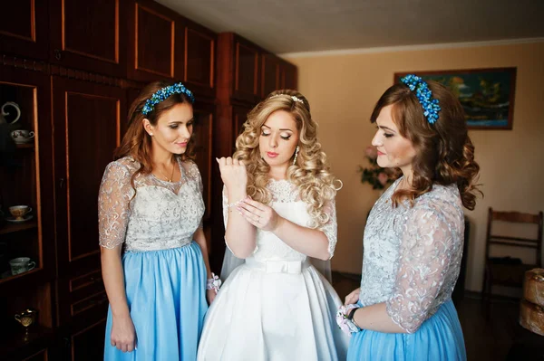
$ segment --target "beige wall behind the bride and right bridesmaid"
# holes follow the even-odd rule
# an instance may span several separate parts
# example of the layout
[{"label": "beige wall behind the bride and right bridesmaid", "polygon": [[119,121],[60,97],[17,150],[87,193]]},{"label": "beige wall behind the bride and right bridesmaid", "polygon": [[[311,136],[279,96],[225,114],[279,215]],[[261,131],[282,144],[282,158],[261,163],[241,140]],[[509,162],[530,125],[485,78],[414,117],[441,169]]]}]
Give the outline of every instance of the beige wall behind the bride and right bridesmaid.
[{"label": "beige wall behind the bride and right bridesmaid", "polygon": [[393,83],[395,71],[518,68],[513,130],[471,130],[482,190],[472,222],[466,288],[480,290],[489,206],[544,210],[544,43],[404,52],[296,57],[299,89],[320,124],[321,141],[335,175],[344,181],[336,200],[338,245],[333,269],[359,273],[366,214],[378,197],[360,182],[364,148],[374,136],[369,116]]}]

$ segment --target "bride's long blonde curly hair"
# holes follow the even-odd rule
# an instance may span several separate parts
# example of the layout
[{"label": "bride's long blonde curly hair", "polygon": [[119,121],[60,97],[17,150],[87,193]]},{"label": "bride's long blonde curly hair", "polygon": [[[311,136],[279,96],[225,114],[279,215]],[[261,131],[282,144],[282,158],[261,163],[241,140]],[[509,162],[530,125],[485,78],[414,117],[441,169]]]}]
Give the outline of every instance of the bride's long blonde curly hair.
[{"label": "bride's long blonde curly hair", "polygon": [[[293,98],[292,98],[293,97]],[[295,98],[296,97],[296,98]],[[297,99],[297,100],[296,100]],[[302,100],[302,101],[298,101]],[[341,183],[330,172],[325,152],[317,141],[317,123],[310,114],[310,104],[306,97],[296,90],[276,90],[266,100],[262,100],[248,114],[244,130],[236,139],[236,152],[233,158],[242,160],[248,170],[248,195],[257,202],[269,204],[272,195],[267,189],[270,181],[270,166],[261,158],[258,140],[261,127],[268,117],[277,110],[285,110],[291,114],[298,129],[298,156],[293,165],[295,154],[291,157],[291,166],[287,169],[287,180],[299,191],[300,199],[307,206],[312,217],[312,228],[323,226],[329,221],[325,212],[325,204],[331,204]]]}]

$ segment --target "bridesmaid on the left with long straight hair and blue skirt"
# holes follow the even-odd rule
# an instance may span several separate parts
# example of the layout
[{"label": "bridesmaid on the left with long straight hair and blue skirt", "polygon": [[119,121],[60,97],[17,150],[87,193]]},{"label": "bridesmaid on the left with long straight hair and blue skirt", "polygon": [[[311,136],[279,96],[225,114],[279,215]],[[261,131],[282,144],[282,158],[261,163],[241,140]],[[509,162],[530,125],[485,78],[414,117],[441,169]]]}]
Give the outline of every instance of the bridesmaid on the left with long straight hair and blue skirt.
[{"label": "bridesmaid on the left with long straight hair and blue skirt", "polygon": [[[104,360],[195,360],[208,301],[199,169],[190,160],[194,98],[181,83],[141,91],[99,193],[110,309]],[[211,288],[211,287],[210,287]]]}]

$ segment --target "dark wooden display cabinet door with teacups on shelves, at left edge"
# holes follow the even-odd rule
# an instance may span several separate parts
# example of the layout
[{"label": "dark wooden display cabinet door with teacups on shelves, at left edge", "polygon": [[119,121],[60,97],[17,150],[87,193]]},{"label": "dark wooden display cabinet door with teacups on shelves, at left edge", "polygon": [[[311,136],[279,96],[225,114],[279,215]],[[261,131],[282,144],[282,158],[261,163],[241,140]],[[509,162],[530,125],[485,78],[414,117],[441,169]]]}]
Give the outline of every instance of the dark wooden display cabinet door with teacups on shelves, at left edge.
[{"label": "dark wooden display cabinet door with teacups on shelves, at left edge", "polygon": [[[7,257],[17,257],[17,253],[31,257],[36,263],[34,271],[14,280],[19,283],[18,286],[13,283],[13,287],[23,290],[25,287],[20,281],[44,273],[44,270],[47,278],[53,279],[55,271],[50,77],[39,71],[0,64],[0,104],[7,101],[18,104],[21,114],[13,125],[4,125],[6,135],[15,129],[34,131],[33,142],[13,147],[4,142],[0,150],[0,202],[4,210],[15,204],[28,204],[34,208],[33,220],[5,222],[0,226],[0,240],[7,242],[10,250],[5,253],[1,270],[5,271]],[[10,112],[5,118],[13,120],[13,108],[6,106],[5,110]],[[9,281],[10,278],[0,280],[0,288]],[[9,294],[4,292],[0,290],[0,294]]]}]

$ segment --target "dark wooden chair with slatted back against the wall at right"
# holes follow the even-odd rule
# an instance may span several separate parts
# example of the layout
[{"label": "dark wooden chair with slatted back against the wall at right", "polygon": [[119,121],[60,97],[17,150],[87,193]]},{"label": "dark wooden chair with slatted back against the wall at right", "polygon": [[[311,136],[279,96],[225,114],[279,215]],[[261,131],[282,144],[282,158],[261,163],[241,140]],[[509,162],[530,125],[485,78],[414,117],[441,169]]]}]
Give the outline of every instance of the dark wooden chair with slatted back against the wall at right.
[{"label": "dark wooden chair with slatted back against the wall at right", "polygon": [[[536,238],[521,238],[504,236],[492,233],[492,223],[495,221],[506,223],[532,223],[538,226]],[[493,244],[508,247],[531,248],[536,252],[536,264],[525,264],[520,259],[510,257],[490,257],[490,248]],[[525,271],[542,267],[542,212],[539,214],[522,214],[519,212],[497,212],[490,207],[488,228],[485,244],[485,269],[482,286],[482,304],[486,307],[486,318],[490,318],[491,288],[493,285],[507,287],[522,287]]]}]

